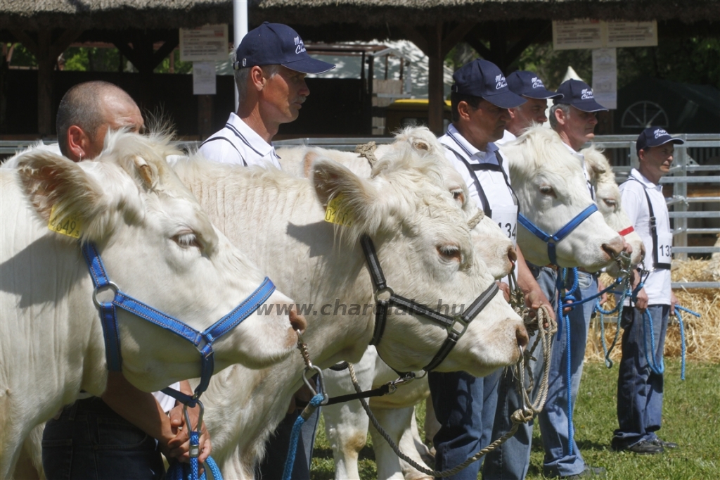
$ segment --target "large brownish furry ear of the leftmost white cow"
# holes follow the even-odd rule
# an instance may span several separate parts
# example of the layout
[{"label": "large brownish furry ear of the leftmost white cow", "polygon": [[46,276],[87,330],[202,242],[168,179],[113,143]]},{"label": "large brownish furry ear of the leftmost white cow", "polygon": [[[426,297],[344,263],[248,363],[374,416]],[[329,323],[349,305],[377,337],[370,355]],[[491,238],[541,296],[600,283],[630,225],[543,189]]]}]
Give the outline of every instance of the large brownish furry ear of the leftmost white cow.
[{"label": "large brownish furry ear of the leftmost white cow", "polygon": [[76,218],[88,224],[104,210],[102,187],[78,164],[50,151],[33,150],[19,157],[18,176],[22,188],[44,221]]}]

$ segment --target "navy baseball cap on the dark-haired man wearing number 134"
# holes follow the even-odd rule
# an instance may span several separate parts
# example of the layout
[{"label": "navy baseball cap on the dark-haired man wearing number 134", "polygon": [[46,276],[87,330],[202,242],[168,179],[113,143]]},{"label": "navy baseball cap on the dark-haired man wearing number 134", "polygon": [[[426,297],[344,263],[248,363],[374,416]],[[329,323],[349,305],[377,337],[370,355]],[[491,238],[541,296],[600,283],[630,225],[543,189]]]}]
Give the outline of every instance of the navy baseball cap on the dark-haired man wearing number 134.
[{"label": "navy baseball cap on the dark-haired man wearing number 134", "polygon": [[495,63],[478,58],[460,67],[452,76],[452,91],[462,95],[482,97],[500,108],[515,108],[527,102],[510,92],[508,81]]}]

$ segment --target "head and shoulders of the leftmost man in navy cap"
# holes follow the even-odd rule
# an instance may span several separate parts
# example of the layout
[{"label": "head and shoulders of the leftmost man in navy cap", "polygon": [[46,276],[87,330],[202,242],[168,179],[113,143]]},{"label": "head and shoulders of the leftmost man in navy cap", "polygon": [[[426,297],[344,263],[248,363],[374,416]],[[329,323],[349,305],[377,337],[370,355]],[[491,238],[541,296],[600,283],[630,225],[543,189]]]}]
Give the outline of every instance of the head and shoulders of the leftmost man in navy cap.
[{"label": "head and shoulders of the leftmost man in navy cap", "polygon": [[310,94],[306,74],[335,66],[310,57],[292,28],[264,22],[243,37],[233,60],[240,99],[238,112],[202,143],[207,159],[240,165],[273,165],[280,169],[271,141],[280,124],[297,119]]}]

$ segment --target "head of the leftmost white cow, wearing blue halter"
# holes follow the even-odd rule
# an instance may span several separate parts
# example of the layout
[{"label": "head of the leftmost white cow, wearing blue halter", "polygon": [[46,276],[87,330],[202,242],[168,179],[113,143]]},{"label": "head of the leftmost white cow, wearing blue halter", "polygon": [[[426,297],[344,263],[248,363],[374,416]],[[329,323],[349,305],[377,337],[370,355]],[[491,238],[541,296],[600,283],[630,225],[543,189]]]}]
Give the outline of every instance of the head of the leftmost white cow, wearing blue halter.
[{"label": "head of the leftmost white cow, wearing blue halter", "polygon": [[[109,280],[202,332],[238,306],[264,275],[212,226],[166,164],[166,156],[179,153],[168,141],[110,133],[102,154],[81,163],[30,151],[17,159],[18,175],[45,224],[54,208],[56,223],[74,222],[81,241],[96,243]],[[84,262],[78,269],[89,277]],[[276,291],[267,303],[291,301]],[[190,342],[118,310],[128,380],[153,391],[198,375],[199,354]],[[305,320],[256,311],[217,341],[215,372],[232,363],[259,368],[284,359],[297,341],[293,326],[302,329]]]}]

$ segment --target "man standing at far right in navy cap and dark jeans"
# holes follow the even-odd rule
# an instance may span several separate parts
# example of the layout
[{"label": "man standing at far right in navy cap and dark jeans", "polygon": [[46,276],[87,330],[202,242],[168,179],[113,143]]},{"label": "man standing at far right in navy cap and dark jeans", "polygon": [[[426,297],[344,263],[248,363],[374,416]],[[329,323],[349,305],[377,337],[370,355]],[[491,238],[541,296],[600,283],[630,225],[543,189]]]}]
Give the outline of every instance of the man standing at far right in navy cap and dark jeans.
[{"label": "man standing at far right in navy cap and dark jeans", "polygon": [[[675,443],[657,437],[662,419],[662,351],[665,346],[667,319],[675,314],[678,303],[670,286],[672,262],[672,230],[660,179],[670,172],[675,144],[685,143],[672,138],[665,130],[651,127],[637,138],[639,166],[620,185],[623,208],[632,226],[642,238],[647,254],[634,308],[623,311],[622,359],[618,371],[618,429],[613,435],[614,450],[634,453],[662,453],[677,448]],[[652,322],[652,329],[649,323]],[[650,342],[644,333],[653,332]],[[654,347],[654,350],[648,351]],[[648,364],[648,360],[650,364]]]}]

